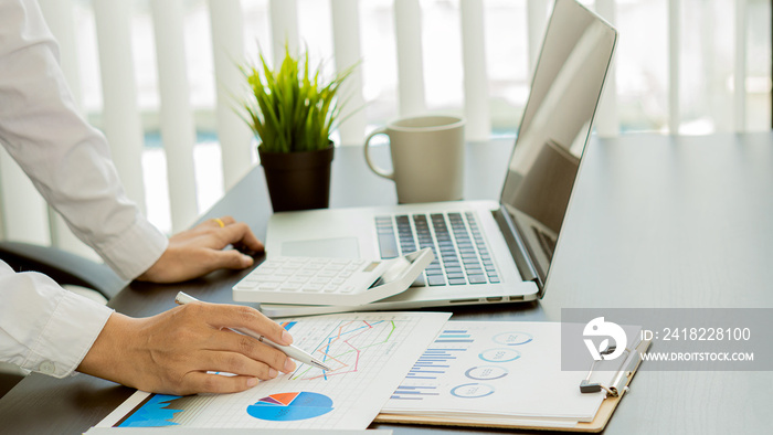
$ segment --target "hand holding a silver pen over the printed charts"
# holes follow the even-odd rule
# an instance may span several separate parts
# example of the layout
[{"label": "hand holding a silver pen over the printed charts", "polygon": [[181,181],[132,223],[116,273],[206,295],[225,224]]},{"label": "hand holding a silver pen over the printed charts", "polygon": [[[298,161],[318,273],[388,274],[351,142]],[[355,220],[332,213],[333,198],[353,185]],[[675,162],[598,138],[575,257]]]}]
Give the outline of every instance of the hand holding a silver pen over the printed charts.
[{"label": "hand holding a silver pen over the printed charts", "polygon": [[[157,316],[114,312],[77,370],[165,394],[233,393],[295,370],[282,351],[226,328],[289,344],[278,323],[251,307],[191,303]],[[235,376],[208,374],[208,371]]]}]

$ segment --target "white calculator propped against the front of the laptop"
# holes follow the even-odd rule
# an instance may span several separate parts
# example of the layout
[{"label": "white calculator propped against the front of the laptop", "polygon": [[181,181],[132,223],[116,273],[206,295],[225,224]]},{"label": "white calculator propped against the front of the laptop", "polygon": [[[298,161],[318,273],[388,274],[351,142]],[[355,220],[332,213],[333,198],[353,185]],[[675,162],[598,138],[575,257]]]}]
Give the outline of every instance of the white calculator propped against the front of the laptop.
[{"label": "white calculator propped against the front of the laptop", "polygon": [[430,248],[390,259],[272,257],[233,287],[233,299],[364,305],[404,291],[434,258]]}]

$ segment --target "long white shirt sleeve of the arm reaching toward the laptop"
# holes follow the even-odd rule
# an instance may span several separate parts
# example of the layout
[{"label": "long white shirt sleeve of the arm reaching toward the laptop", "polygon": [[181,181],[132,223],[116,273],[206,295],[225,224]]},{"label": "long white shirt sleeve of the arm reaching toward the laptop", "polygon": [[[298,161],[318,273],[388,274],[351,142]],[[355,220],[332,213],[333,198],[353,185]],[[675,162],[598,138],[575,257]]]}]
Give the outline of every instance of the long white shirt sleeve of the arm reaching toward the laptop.
[{"label": "long white shirt sleeve of the arm reaching toward the laptop", "polygon": [[126,197],[105,137],[77,113],[33,0],[0,0],[0,142],[123,278],[147,270],[167,248],[168,238]]}]

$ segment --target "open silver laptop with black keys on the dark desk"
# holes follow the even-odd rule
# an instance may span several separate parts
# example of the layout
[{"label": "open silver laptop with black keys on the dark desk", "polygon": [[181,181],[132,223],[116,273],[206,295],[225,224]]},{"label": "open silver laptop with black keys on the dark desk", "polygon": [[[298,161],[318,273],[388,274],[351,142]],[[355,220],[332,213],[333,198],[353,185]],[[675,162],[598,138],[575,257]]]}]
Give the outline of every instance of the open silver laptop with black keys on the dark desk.
[{"label": "open silver laptop with black keys on the dark desk", "polygon": [[359,307],[262,304],[273,317],[540,298],[612,62],[616,30],[557,0],[499,202],[455,201],[275,213],[272,256],[391,258],[430,247],[407,290]]}]

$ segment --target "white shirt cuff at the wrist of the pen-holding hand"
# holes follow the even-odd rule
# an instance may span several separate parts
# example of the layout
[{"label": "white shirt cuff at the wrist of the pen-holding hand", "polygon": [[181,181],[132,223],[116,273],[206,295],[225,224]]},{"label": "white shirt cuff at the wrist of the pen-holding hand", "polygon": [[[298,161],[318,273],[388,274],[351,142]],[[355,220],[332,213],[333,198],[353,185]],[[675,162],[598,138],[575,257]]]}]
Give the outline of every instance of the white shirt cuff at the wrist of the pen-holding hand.
[{"label": "white shirt cuff at the wrist of the pen-holding hand", "polygon": [[[104,305],[62,291],[53,315],[21,367],[54,378],[72,374],[112,315],[113,310]],[[60,351],[53,356],[52,350],[56,349]]]}]

